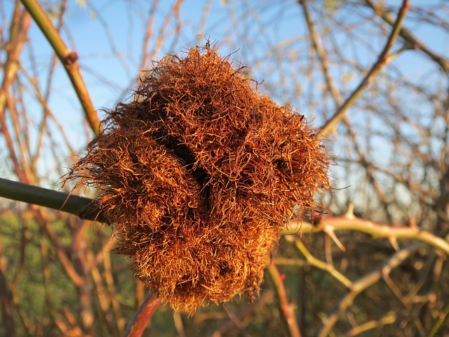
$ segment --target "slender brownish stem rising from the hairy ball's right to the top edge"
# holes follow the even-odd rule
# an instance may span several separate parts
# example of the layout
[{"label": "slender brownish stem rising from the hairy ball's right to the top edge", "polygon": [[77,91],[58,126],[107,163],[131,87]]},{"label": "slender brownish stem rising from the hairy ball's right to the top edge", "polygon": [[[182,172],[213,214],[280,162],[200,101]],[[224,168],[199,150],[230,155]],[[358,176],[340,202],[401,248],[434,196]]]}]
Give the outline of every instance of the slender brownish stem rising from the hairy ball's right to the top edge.
[{"label": "slender brownish stem rising from the hairy ball's right to the top edge", "polygon": [[380,70],[382,70],[383,67],[389,64],[391,60],[397,55],[394,54],[392,56],[389,56],[388,53],[391,50],[391,48],[394,45],[394,42],[396,41],[396,38],[398,37],[399,32],[401,31],[401,26],[403,19],[406,17],[406,13],[408,11],[409,7],[409,0],[403,0],[401,8],[398,12],[398,17],[396,18],[396,22],[394,22],[393,29],[391,31],[391,34],[388,38],[387,44],[385,44],[384,49],[382,50],[382,53],[380,53],[379,57],[377,58],[377,61],[371,67],[368,74],[366,74],[366,77],[361,81],[361,84],[358,85],[356,90],[351,93],[349,98],[344,101],[343,105],[340,106],[340,108],[335,112],[333,117],[331,117],[328,121],[326,121],[326,124],[324,124],[321,127],[321,131],[319,133],[319,137],[323,138],[326,135],[328,135],[335,126],[344,118],[344,114],[346,114],[349,107],[351,107],[354,102],[358,99],[358,97],[363,93],[363,91],[368,87],[368,85],[373,81],[373,79],[379,74]]}]

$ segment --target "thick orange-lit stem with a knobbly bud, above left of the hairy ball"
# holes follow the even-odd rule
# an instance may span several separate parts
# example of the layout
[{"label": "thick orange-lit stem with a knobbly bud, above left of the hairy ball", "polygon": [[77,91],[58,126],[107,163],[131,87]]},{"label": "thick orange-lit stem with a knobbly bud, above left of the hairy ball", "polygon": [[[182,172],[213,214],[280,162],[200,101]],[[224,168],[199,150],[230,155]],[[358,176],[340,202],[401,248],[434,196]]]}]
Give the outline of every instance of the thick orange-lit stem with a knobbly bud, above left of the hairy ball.
[{"label": "thick orange-lit stem with a knobbly bud, above left of the hairy ball", "polygon": [[88,124],[91,126],[93,133],[98,135],[101,131],[100,119],[98,119],[98,114],[93,107],[91,96],[89,95],[86,84],[84,84],[83,77],[81,76],[78,62],[76,62],[78,60],[78,55],[74,51],[71,51],[65,45],[64,41],[62,41],[58,30],[55,29],[50,18],[48,18],[48,15],[43,11],[43,8],[37,0],[20,1],[51,44],[56,55],[58,55],[58,58],[62,62],[62,65],[64,65],[65,71],[67,72],[70,81],[72,81],[72,86],[76,91],[76,95],[78,95],[79,102],[83,107]]}]

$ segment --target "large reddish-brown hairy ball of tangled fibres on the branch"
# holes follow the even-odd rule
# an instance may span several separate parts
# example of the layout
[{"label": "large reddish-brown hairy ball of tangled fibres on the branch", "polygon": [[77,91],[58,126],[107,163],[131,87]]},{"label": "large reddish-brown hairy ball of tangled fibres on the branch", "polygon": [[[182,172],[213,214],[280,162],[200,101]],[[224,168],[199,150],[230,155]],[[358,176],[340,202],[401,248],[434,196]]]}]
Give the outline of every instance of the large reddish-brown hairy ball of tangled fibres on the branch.
[{"label": "large reddish-brown hairy ball of tangled fibres on the branch", "polygon": [[98,188],[116,251],[175,310],[253,298],[293,209],[328,187],[314,130],[245,74],[208,46],[166,56],[72,168]]}]

